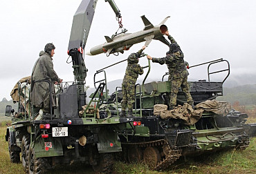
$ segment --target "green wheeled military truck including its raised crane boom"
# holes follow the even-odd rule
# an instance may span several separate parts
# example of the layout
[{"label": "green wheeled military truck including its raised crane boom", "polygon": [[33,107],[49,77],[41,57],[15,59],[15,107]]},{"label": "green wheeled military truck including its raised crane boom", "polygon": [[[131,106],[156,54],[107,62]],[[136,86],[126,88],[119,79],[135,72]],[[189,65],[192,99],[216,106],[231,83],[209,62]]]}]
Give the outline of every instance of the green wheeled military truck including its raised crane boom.
[{"label": "green wheeled military truck including its raised crane boom", "polygon": [[[107,0],[106,0],[107,1]],[[120,23],[120,10],[112,0],[109,4]],[[110,173],[113,153],[122,151],[120,133],[125,133],[127,123],[140,118],[120,118],[109,112],[107,103],[107,80],[95,81],[95,93],[86,101],[86,66],[83,50],[89,35],[97,1],[84,0],[73,18],[68,55],[72,58],[75,81],[55,86],[57,106],[51,107],[49,115],[33,109],[30,77],[21,79],[13,90],[18,110],[6,106],[6,116],[12,124],[6,130],[6,141],[11,162],[20,162],[27,173],[45,173],[55,164],[84,162],[94,171]],[[69,57],[68,57],[69,58]],[[54,89],[49,92],[52,95]],[[96,86],[97,85],[97,86]],[[51,96],[51,106],[52,99]],[[104,106],[104,110],[99,110]],[[122,134],[122,136],[126,136]]]}]

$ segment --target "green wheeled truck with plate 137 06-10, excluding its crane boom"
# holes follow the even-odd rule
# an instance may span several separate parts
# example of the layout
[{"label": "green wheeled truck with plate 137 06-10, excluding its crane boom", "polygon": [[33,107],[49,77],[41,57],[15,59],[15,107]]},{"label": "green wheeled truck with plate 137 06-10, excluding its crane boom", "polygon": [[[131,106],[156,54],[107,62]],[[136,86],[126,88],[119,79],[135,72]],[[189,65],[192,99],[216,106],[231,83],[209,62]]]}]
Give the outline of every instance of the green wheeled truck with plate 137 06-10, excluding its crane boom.
[{"label": "green wheeled truck with plate 137 06-10, excluding its crane boom", "polygon": [[[126,123],[136,118],[120,118],[106,110],[98,111],[101,104],[107,104],[97,96],[91,99],[94,105],[89,109],[84,106],[84,112],[78,113],[77,84],[65,85],[60,86],[58,105],[50,117],[30,114],[21,99],[17,112],[11,106],[6,107],[6,115],[12,117],[12,124],[6,130],[10,160],[20,162],[21,153],[24,169],[30,173],[44,173],[55,164],[73,162],[91,164],[95,171],[108,173],[113,164],[112,153],[122,151],[118,133],[125,131]],[[29,93],[29,84],[21,86],[18,85],[19,97],[25,96],[22,93],[25,88]],[[104,95],[103,86],[104,83],[100,84],[93,95],[98,92]],[[28,98],[24,99],[30,104]]]}]

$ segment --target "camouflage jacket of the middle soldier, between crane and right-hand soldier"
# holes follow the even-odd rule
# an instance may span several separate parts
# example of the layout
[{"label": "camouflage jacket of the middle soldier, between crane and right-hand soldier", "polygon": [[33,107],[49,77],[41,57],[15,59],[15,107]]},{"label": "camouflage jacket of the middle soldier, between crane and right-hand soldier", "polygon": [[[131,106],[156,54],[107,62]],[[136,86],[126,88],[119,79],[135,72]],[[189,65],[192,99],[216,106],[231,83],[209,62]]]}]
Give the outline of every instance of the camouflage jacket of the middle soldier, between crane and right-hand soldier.
[{"label": "camouflage jacket of the middle soldier, between crane and right-hand soldier", "polygon": [[[141,54],[142,52],[143,50],[139,50],[137,54]],[[143,75],[143,72],[143,68],[138,64],[138,61],[134,61],[133,64],[128,61],[123,81],[130,81],[135,84],[138,79],[138,75]]]}]

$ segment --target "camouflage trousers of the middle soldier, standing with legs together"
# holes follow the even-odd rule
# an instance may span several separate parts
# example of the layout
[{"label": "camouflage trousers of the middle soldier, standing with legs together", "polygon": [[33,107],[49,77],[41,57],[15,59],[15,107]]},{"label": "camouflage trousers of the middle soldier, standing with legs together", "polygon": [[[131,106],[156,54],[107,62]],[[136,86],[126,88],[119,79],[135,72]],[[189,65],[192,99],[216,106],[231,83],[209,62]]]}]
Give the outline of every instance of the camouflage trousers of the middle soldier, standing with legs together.
[{"label": "camouflage trousers of the middle soldier, standing with legs together", "polygon": [[122,110],[132,110],[135,102],[135,83],[131,81],[122,81]]}]

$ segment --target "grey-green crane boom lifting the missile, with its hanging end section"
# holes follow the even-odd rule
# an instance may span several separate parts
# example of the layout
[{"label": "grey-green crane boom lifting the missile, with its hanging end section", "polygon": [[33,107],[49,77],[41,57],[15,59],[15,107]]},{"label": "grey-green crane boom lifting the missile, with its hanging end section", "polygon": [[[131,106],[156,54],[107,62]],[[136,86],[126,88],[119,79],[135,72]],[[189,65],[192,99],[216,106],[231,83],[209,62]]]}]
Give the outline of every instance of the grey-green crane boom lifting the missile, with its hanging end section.
[{"label": "grey-green crane boom lifting the missile, with its hanging end section", "polygon": [[[71,35],[68,43],[68,55],[72,57],[73,74],[77,84],[77,102],[79,108],[85,105],[86,99],[84,84],[87,69],[82,53],[89,35],[97,2],[98,0],[82,0],[73,17]],[[119,19],[121,18],[121,14],[116,3],[113,0],[105,0],[105,2],[109,2],[109,5],[118,18],[118,23],[120,23]]]}]

